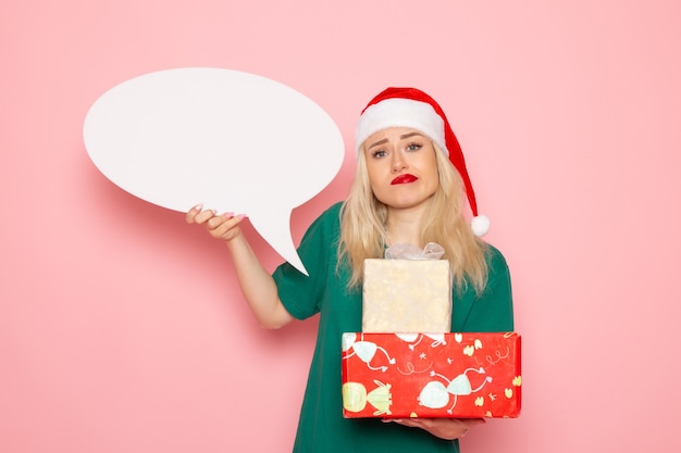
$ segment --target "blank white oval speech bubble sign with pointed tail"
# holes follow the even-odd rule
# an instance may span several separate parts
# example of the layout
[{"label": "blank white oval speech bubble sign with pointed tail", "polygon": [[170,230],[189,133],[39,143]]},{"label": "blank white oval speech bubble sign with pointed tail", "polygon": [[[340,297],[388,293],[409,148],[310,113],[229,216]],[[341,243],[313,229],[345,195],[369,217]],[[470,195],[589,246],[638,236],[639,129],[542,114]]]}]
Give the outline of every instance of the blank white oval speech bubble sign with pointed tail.
[{"label": "blank white oval speech bubble sign with pointed tail", "polygon": [[203,203],[245,213],[306,275],[290,212],[333,180],[345,155],[337,125],[306,96],[211,67],[149,73],[111,88],[90,106],[83,139],[116,186],[174,211]]}]

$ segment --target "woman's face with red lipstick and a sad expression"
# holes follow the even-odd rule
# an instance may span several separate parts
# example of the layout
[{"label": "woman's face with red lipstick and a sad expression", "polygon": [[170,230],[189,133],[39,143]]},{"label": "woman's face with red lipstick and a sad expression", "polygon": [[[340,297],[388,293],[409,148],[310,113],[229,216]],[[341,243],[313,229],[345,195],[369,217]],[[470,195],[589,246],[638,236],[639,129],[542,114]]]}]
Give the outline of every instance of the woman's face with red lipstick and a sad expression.
[{"label": "woman's face with red lipstick and a sad expression", "polygon": [[388,207],[424,204],[439,185],[435,148],[416,129],[392,127],[364,141],[371,189]]}]

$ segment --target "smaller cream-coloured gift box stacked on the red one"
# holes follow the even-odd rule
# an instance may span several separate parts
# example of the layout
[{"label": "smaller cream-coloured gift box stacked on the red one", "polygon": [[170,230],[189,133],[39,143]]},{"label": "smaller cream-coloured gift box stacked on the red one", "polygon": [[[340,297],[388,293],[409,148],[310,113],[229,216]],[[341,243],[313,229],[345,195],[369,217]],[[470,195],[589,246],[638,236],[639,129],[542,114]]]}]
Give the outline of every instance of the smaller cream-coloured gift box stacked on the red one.
[{"label": "smaller cream-coloured gift box stacked on the red one", "polygon": [[366,260],[364,332],[449,332],[451,274],[447,260]]}]

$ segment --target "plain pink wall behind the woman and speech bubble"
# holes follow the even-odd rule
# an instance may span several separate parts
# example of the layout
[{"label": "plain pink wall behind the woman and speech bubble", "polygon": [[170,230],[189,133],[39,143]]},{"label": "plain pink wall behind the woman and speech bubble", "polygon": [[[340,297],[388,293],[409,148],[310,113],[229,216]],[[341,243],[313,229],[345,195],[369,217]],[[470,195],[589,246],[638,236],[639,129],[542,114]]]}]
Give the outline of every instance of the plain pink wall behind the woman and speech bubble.
[{"label": "plain pink wall behind the woman and speech bubble", "polygon": [[[680,17],[672,0],[5,0],[0,450],[289,451],[315,322],[261,330],[225,248],[83,146],[104,90],[182,66],[282,81],[348,143],[386,86],[443,104],[524,348],[522,416],[467,453],[681,450]],[[294,212],[296,241],[352,161]]]}]

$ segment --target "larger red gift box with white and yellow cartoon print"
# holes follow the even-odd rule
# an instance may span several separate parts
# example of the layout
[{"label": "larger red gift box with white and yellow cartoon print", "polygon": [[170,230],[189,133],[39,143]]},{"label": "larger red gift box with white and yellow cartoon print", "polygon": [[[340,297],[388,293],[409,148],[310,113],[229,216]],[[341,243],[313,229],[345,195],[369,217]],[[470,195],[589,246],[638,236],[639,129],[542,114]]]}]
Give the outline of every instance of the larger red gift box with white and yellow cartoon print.
[{"label": "larger red gift box with white and yellow cartoon print", "polygon": [[343,415],[517,417],[520,336],[344,334]]}]

